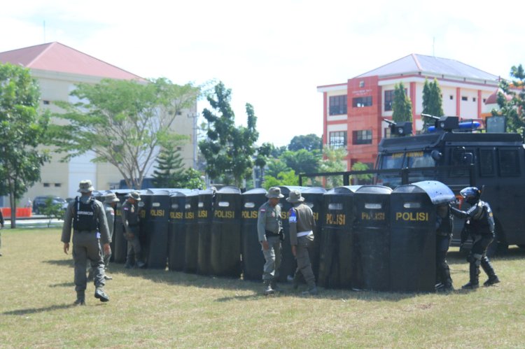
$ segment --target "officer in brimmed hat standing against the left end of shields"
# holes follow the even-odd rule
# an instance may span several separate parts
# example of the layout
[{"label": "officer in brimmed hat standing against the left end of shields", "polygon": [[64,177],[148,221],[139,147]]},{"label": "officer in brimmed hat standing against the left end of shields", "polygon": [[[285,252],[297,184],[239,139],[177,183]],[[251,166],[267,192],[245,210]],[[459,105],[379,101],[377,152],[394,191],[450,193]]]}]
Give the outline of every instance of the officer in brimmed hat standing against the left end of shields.
[{"label": "officer in brimmed hat standing against the left end of shields", "polygon": [[127,256],[124,267],[127,269],[133,268],[133,266],[137,266],[137,268],[146,266],[146,263],[142,260],[142,247],[139,236],[139,201],[141,201],[139,192],[130,192],[130,194],[127,194],[127,200],[122,206],[123,233],[127,240]]}]

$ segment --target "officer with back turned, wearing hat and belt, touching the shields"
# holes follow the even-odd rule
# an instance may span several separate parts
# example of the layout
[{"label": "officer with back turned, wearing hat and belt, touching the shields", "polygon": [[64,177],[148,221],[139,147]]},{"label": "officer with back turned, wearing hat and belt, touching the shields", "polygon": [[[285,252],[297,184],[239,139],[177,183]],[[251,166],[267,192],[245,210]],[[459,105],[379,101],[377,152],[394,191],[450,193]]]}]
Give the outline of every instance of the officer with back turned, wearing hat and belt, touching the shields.
[{"label": "officer with back turned, wearing hat and belt, touching the shields", "polygon": [[317,294],[316,280],[314,272],[311,270],[310,256],[308,245],[314,241],[314,227],[316,221],[314,213],[309,206],[303,204],[304,197],[299,190],[292,190],[286,198],[293,207],[290,208],[288,223],[290,224],[290,245],[292,245],[292,254],[297,261],[297,269],[294,276],[294,288],[297,285],[295,281],[302,273],[307,283],[308,290],[302,294]]}]

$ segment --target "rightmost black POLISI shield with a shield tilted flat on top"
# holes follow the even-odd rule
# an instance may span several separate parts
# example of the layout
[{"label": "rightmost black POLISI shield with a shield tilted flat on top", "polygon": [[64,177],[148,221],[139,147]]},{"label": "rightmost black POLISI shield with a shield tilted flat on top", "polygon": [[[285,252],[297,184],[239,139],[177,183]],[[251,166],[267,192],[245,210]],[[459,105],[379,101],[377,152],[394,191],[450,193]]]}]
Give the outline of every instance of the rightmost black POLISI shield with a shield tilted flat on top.
[{"label": "rightmost black POLISI shield with a shield tilted flat on top", "polygon": [[391,194],[391,290],[430,292],[435,287],[435,205],[454,200],[443,183],[401,185]]}]

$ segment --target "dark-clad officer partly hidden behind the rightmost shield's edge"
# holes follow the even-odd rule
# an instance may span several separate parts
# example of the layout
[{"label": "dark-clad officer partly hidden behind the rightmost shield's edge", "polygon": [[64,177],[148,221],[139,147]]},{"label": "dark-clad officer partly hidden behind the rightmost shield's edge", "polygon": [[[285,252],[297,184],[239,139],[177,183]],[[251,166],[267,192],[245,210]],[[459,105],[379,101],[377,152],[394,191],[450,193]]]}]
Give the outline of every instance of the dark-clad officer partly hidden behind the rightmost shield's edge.
[{"label": "dark-clad officer partly hidden behind the rightmost shield's edge", "polygon": [[435,238],[435,266],[436,266],[436,290],[453,291],[450,268],[447,264],[447,252],[449,250],[453,217],[449,204],[440,204],[436,208],[436,238]]}]

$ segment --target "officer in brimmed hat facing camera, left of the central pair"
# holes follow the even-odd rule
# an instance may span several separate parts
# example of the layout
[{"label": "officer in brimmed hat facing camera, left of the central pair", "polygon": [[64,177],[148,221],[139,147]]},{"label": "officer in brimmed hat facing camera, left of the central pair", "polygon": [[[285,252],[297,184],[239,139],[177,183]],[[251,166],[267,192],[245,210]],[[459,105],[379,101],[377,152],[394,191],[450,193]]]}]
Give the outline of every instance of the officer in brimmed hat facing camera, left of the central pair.
[{"label": "officer in brimmed hat facing camera, left of the central pair", "polygon": [[279,199],[284,197],[278,187],[269,188],[266,197],[268,201],[262,204],[258,211],[257,233],[265,256],[265,266],[262,271],[262,281],[265,283],[265,294],[273,294],[276,289],[276,279],[281,266],[281,238],[283,238],[283,223],[281,221],[281,206]]}]

